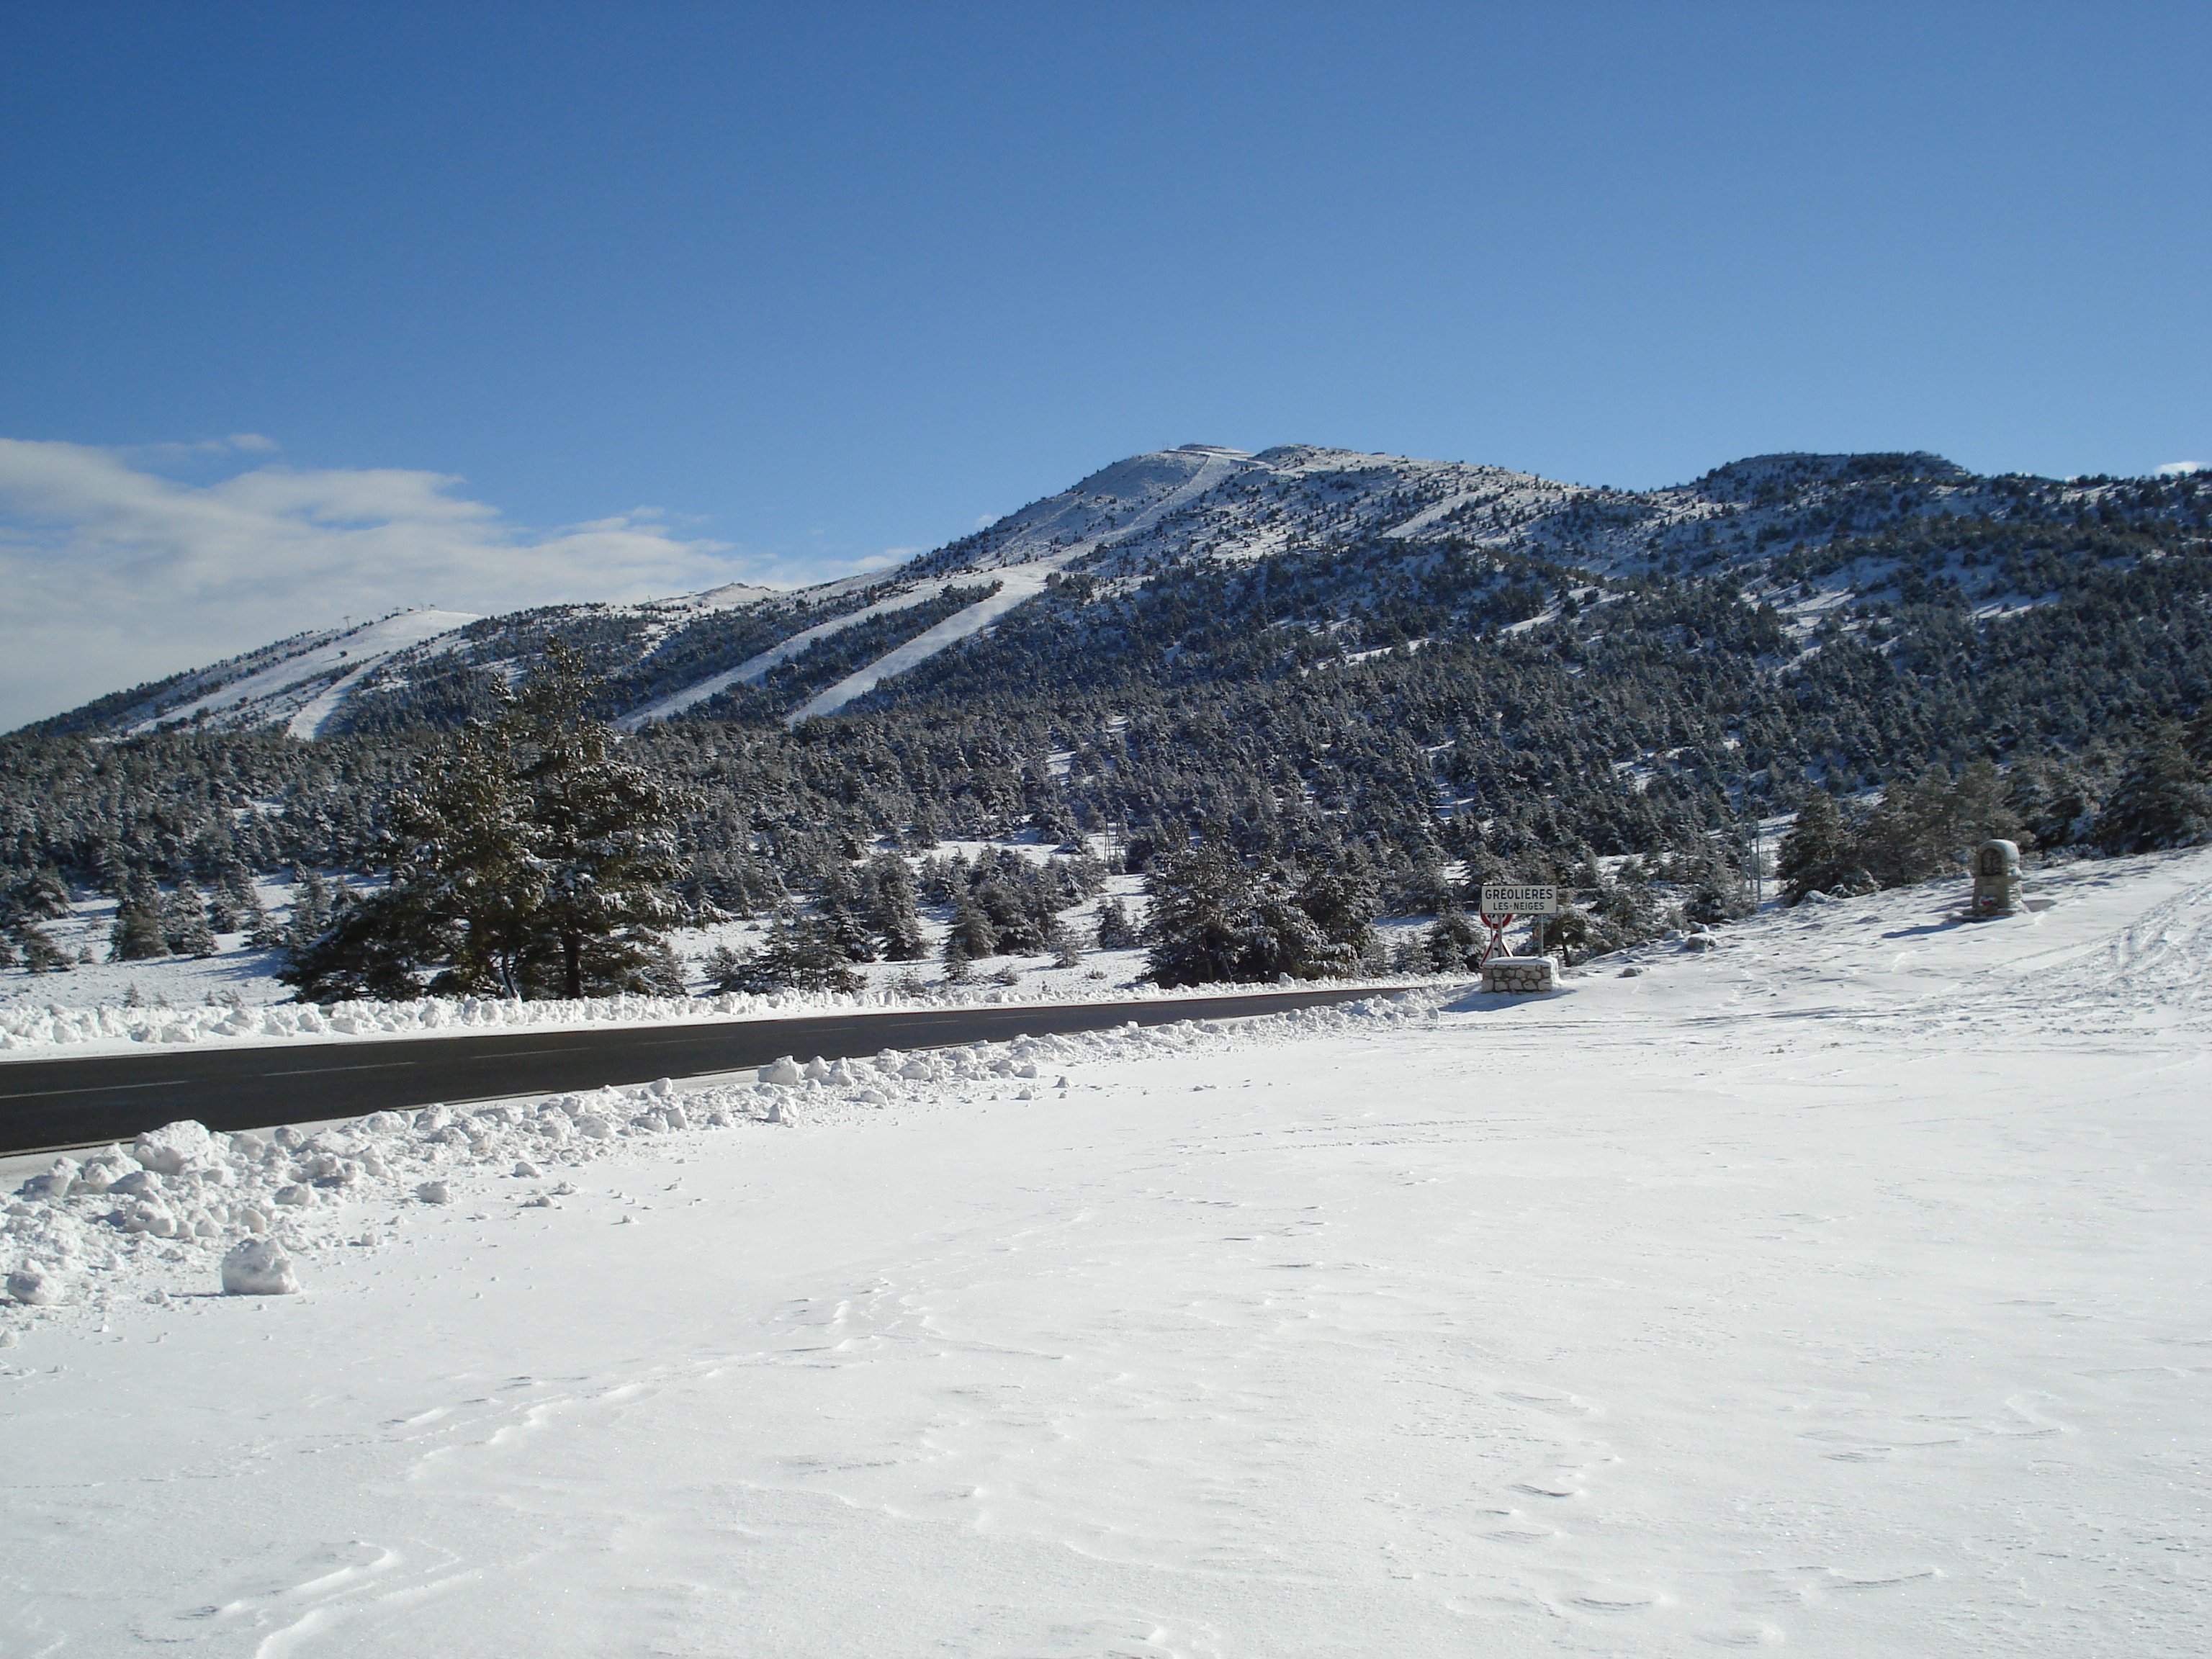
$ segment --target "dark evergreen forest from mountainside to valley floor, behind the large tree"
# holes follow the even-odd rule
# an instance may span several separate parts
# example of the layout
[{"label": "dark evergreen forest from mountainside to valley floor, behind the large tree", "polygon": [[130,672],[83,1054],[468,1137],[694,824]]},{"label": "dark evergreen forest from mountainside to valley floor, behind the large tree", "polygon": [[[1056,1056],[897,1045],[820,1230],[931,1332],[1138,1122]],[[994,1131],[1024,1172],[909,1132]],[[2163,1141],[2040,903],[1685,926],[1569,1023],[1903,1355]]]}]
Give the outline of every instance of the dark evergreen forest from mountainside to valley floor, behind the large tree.
[{"label": "dark evergreen forest from mountainside to valley floor, behind the large tree", "polygon": [[[1801,810],[1792,894],[1920,880],[1982,834],[2046,854],[2212,836],[2212,476],[2062,484],[1927,456],[1765,458],[1699,480],[1694,511],[1586,491],[1471,535],[1402,478],[1343,471],[1352,484],[1301,473],[1296,495],[1239,482],[1228,500],[1276,538],[1265,555],[1223,546],[1230,509],[1170,518],[834,714],[792,719],[998,591],[962,564],[989,535],[918,560],[938,582],[920,602],[633,719],[619,768],[664,807],[648,860],[664,920],[781,916],[785,982],[858,951],[905,960],[911,900],[885,898],[885,854],[1029,836],[1159,874],[1159,914],[1186,865],[1217,887],[1243,872],[1252,905],[1305,894],[1305,933],[1283,936],[1305,938],[1305,975],[1358,960],[1354,911],[1436,916],[1451,960],[1451,918],[1482,878],[1604,889],[1599,858],[1672,869],[1721,918],[1752,874],[1745,827]],[[1376,529],[1405,513],[1425,515],[1420,535]],[[9,951],[35,951],[71,887],[131,898],[150,945],[186,889],[234,914],[257,872],[387,876],[456,743],[487,741],[507,686],[526,697],[549,653],[582,712],[624,721],[891,591],[675,626],[615,606],[487,619],[380,670],[316,737],[144,719],[159,686],[13,732]],[[975,898],[993,880],[995,920]],[[1015,880],[969,869],[920,902],[975,909],[975,940],[1064,949],[1051,918],[1073,898],[1013,902]],[[648,967],[648,933],[617,980]],[[575,984],[573,951],[566,975],[549,960],[484,982]],[[723,967],[732,984],[761,973]]]}]

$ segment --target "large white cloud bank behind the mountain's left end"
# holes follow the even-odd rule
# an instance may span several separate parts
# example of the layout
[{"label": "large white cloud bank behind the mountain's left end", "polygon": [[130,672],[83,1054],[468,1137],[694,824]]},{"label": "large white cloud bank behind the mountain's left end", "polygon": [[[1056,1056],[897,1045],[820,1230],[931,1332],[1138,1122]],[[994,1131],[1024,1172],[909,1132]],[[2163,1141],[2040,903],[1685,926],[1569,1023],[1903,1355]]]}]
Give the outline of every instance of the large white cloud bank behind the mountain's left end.
[{"label": "large white cloud bank behind the mountain's left end", "polygon": [[440,473],[261,465],[184,484],[133,465],[274,447],[254,434],[137,451],[0,438],[0,730],[343,615],[761,580],[648,507],[529,531]]}]

